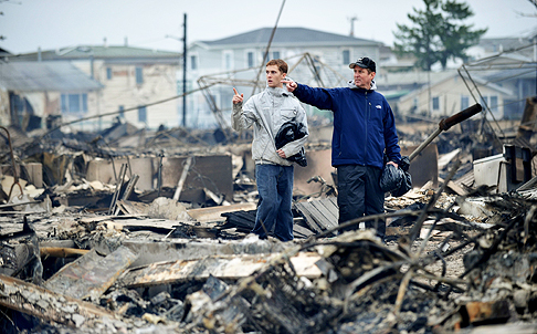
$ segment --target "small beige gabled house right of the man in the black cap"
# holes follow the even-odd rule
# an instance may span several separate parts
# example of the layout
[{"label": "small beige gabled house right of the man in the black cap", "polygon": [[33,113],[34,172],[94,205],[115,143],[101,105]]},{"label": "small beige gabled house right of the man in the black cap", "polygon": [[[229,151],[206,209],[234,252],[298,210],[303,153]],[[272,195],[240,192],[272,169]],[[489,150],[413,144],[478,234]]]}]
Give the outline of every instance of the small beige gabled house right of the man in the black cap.
[{"label": "small beige gabled house right of the man in the black cap", "polygon": [[513,101],[513,92],[475,76],[472,79],[466,79],[465,83],[455,72],[430,85],[424,84],[397,102],[398,114],[443,118],[480,103],[487,108],[487,118],[503,118],[504,104]]}]

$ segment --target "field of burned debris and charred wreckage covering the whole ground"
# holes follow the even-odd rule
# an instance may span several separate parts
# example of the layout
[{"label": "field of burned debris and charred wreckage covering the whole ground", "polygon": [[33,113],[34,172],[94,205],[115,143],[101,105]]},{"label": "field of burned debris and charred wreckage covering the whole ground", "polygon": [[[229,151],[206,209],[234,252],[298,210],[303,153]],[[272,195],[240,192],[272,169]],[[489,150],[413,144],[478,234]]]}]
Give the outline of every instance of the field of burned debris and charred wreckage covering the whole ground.
[{"label": "field of burned debris and charred wreckage covering the whole ground", "polygon": [[[526,126],[524,140],[498,145],[460,129],[473,119],[453,125],[430,140],[402,126],[413,189],[388,194],[385,213],[340,226],[330,149],[312,143],[285,243],[249,234],[257,198],[239,138],[117,123],[43,142],[6,128],[0,328],[534,333],[531,135]],[[366,220],[387,222],[386,242],[340,232]]]}]

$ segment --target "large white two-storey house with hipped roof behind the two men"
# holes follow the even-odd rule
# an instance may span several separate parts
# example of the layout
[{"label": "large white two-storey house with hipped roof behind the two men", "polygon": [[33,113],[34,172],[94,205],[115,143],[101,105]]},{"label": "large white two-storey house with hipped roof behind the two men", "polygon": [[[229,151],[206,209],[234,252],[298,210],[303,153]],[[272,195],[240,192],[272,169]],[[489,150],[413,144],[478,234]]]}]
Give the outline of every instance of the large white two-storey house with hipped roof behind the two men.
[{"label": "large white two-storey house with hipped roof behind the two men", "polygon": [[[277,28],[273,36],[272,32],[272,28],[262,28],[189,46],[188,86],[204,90],[188,97],[187,126],[229,126],[232,87],[244,93],[245,98],[260,92],[265,85],[267,60],[285,60],[289,65],[288,76],[295,81],[334,87],[346,85],[352,79],[350,62],[360,56],[379,60],[382,46],[372,40],[305,28]],[[268,54],[263,60],[268,44]],[[381,66],[378,71],[382,71]]]}]

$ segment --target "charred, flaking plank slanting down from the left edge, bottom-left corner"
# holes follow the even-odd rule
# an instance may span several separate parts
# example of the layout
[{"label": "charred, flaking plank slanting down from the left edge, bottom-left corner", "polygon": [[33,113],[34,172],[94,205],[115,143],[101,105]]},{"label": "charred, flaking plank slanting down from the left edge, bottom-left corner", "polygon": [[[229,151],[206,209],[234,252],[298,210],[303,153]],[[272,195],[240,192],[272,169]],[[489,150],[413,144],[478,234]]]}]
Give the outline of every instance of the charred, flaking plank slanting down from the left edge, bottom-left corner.
[{"label": "charred, flaking plank slanting down from the left edge, bottom-left corner", "polygon": [[117,315],[101,306],[83,302],[39,285],[0,274],[0,305],[69,326],[81,326]]}]

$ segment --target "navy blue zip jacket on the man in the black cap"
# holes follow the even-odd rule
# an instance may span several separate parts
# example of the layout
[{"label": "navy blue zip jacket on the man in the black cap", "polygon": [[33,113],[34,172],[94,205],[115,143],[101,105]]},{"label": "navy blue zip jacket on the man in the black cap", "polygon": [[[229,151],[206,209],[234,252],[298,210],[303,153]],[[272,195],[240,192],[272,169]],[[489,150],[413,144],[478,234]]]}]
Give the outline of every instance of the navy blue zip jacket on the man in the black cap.
[{"label": "navy blue zip jacket on the man in the black cap", "polygon": [[319,109],[334,112],[331,165],[361,165],[382,168],[383,153],[396,164],[401,148],[396,121],[388,101],[373,90],[349,87],[313,88],[298,84],[293,94]]}]

